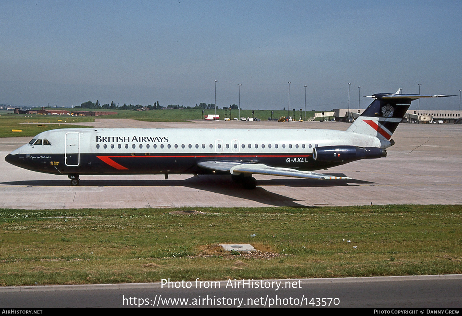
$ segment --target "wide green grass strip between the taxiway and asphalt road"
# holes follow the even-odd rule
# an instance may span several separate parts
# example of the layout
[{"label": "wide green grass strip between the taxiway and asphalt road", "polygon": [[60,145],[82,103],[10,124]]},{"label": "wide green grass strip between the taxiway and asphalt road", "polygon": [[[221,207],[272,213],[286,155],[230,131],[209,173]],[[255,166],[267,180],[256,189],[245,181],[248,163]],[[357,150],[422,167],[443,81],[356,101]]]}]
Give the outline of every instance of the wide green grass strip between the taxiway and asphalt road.
[{"label": "wide green grass strip between the taxiway and asphalt road", "polygon": [[0,284],[462,273],[462,206],[191,209],[0,209]]}]

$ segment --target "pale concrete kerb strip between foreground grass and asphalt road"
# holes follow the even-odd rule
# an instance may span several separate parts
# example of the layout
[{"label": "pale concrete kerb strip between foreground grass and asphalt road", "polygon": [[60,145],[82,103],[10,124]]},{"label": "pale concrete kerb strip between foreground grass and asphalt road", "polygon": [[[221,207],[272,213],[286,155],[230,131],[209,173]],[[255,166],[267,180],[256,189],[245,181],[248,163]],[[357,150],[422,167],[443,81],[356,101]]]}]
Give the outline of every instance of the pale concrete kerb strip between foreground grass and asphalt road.
[{"label": "pale concrete kerb strip between foreground grass and asphalt road", "polygon": [[[244,279],[245,280],[245,279]],[[301,281],[304,285],[324,283],[371,283],[371,282],[396,282],[396,281],[423,281],[423,280],[461,280],[462,274],[437,274],[437,275],[399,275],[399,276],[378,276],[378,277],[347,277],[347,278],[318,278],[318,279],[277,279],[277,280],[253,280],[254,282],[294,282]],[[200,280],[202,282],[213,280]],[[239,280],[237,280],[239,281]],[[178,281],[172,281],[178,282]],[[181,282],[181,281],[180,281]],[[190,281],[194,283],[195,281]],[[217,281],[213,281],[217,282]],[[219,280],[221,286],[226,286],[228,280]],[[51,285],[51,286],[4,286],[0,292],[43,292],[43,291],[66,291],[66,290],[121,290],[131,288],[160,288],[161,282],[153,283],[119,283],[119,284],[85,284],[85,285]]]}]

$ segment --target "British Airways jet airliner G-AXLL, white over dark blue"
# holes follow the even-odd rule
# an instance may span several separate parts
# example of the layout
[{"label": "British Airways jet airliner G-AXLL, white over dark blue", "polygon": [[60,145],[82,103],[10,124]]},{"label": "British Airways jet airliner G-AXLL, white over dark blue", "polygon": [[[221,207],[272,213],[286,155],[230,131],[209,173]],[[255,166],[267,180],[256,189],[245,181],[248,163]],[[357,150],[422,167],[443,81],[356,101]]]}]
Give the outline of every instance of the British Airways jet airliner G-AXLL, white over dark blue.
[{"label": "British Airways jet airliner G-AXLL, white over dark blue", "polygon": [[377,93],[346,131],[322,129],[64,128],[42,132],[5,160],[67,175],[227,174],[253,189],[253,174],[348,180],[313,170],[387,156],[413,100],[452,95]]}]

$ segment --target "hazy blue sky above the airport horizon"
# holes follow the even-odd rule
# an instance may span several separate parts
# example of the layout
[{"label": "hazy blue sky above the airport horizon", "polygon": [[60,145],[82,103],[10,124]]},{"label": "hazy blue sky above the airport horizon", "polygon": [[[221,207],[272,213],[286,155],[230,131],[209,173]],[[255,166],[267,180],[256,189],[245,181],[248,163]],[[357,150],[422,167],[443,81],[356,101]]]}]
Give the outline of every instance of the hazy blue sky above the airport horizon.
[{"label": "hazy blue sky above the airport horizon", "polygon": [[[0,2],[0,103],[345,108],[459,94],[461,1]],[[370,103],[361,97],[361,108]],[[412,108],[417,106],[413,103]],[[421,109],[458,109],[459,98]]]}]

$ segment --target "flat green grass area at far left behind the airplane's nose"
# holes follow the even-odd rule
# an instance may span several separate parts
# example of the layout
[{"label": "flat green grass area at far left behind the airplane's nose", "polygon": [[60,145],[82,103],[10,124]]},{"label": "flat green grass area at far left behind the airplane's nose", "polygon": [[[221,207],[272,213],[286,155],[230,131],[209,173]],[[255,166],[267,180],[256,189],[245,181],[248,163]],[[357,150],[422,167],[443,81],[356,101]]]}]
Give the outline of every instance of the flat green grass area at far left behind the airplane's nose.
[{"label": "flat green grass area at far left behind the airplane's nose", "polygon": [[[6,111],[5,111],[6,112]],[[58,121],[61,120],[61,121]],[[36,122],[35,124],[21,124],[25,122]],[[58,123],[58,124],[48,124]],[[19,115],[0,114],[0,137],[24,137],[35,136],[43,131],[56,128],[89,128],[89,126],[70,125],[60,123],[94,122],[93,117],[69,117],[68,115]],[[38,126],[44,125],[44,126]],[[21,132],[12,132],[12,129],[20,129]]]}]

